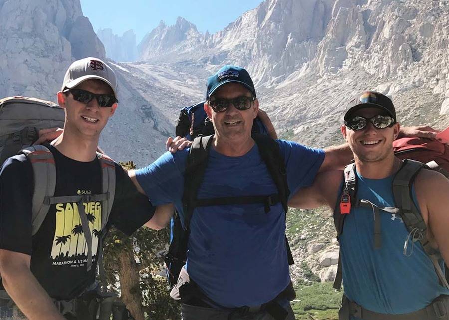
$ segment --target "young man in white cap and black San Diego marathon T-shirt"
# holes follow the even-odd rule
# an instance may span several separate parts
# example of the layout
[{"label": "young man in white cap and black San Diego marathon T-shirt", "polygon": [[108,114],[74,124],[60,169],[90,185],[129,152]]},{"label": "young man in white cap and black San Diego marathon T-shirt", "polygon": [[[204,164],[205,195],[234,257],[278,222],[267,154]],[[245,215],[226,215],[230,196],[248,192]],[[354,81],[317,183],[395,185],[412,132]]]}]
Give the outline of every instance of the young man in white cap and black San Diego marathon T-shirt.
[{"label": "young man in white cap and black San Diego marathon T-shirt", "polygon": [[[101,194],[96,150],[100,133],[117,108],[116,87],[114,71],[97,58],[75,61],[67,70],[57,93],[59,106],[65,109],[64,131],[49,146],[56,167],[55,197]],[[155,208],[116,163],[115,177],[106,228],[114,225],[130,235],[152,218]],[[92,239],[90,265],[89,241],[77,203],[51,205],[32,235],[34,176],[25,155],[6,160],[0,183],[1,289],[29,319],[64,319],[54,301],[74,299],[95,282],[103,202],[83,203]]]}]

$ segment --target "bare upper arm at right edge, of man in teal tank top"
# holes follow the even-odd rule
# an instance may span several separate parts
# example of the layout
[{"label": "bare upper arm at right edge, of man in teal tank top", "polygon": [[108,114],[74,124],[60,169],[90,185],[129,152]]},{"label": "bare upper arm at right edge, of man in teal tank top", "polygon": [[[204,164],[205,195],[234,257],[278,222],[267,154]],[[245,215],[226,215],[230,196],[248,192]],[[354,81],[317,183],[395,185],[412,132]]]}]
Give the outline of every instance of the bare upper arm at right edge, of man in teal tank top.
[{"label": "bare upper arm at right edge, of man in teal tank top", "polygon": [[436,171],[421,170],[415,189],[421,211],[427,211],[428,226],[449,265],[449,179]]}]

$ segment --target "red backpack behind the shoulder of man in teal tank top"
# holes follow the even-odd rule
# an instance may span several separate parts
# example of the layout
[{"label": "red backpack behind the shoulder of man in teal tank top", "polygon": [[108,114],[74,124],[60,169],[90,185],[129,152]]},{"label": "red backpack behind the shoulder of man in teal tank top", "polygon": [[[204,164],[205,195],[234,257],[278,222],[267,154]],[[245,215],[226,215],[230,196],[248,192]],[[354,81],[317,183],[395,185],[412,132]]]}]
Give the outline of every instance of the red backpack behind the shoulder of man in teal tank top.
[{"label": "red backpack behind the shoulder of man in teal tank top", "polygon": [[412,159],[423,163],[435,161],[440,171],[449,178],[449,146],[426,138],[401,138],[393,141],[393,150],[399,159]]}]

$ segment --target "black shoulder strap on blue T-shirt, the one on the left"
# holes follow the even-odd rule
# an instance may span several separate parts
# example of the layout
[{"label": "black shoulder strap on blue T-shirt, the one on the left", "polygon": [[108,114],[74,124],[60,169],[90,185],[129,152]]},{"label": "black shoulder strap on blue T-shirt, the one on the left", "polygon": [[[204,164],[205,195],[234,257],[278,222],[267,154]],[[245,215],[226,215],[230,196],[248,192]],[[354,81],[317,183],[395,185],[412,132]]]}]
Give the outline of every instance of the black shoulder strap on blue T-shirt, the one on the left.
[{"label": "black shoulder strap on blue T-shirt, the one on the left", "polygon": [[192,142],[187,158],[186,172],[184,174],[184,229],[189,229],[190,219],[193,213],[193,203],[197,198],[198,188],[203,182],[204,172],[206,170],[209,148],[214,135],[197,137]]}]

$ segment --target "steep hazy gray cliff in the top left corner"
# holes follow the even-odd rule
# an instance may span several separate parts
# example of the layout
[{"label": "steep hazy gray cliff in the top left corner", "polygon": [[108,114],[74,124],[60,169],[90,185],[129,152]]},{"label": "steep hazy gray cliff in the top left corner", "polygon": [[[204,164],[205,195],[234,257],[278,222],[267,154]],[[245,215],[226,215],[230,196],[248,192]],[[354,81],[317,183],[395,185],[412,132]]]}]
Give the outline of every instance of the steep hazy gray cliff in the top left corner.
[{"label": "steep hazy gray cliff in the top left corner", "polygon": [[53,100],[73,60],[104,53],[79,1],[0,1],[1,97]]}]

